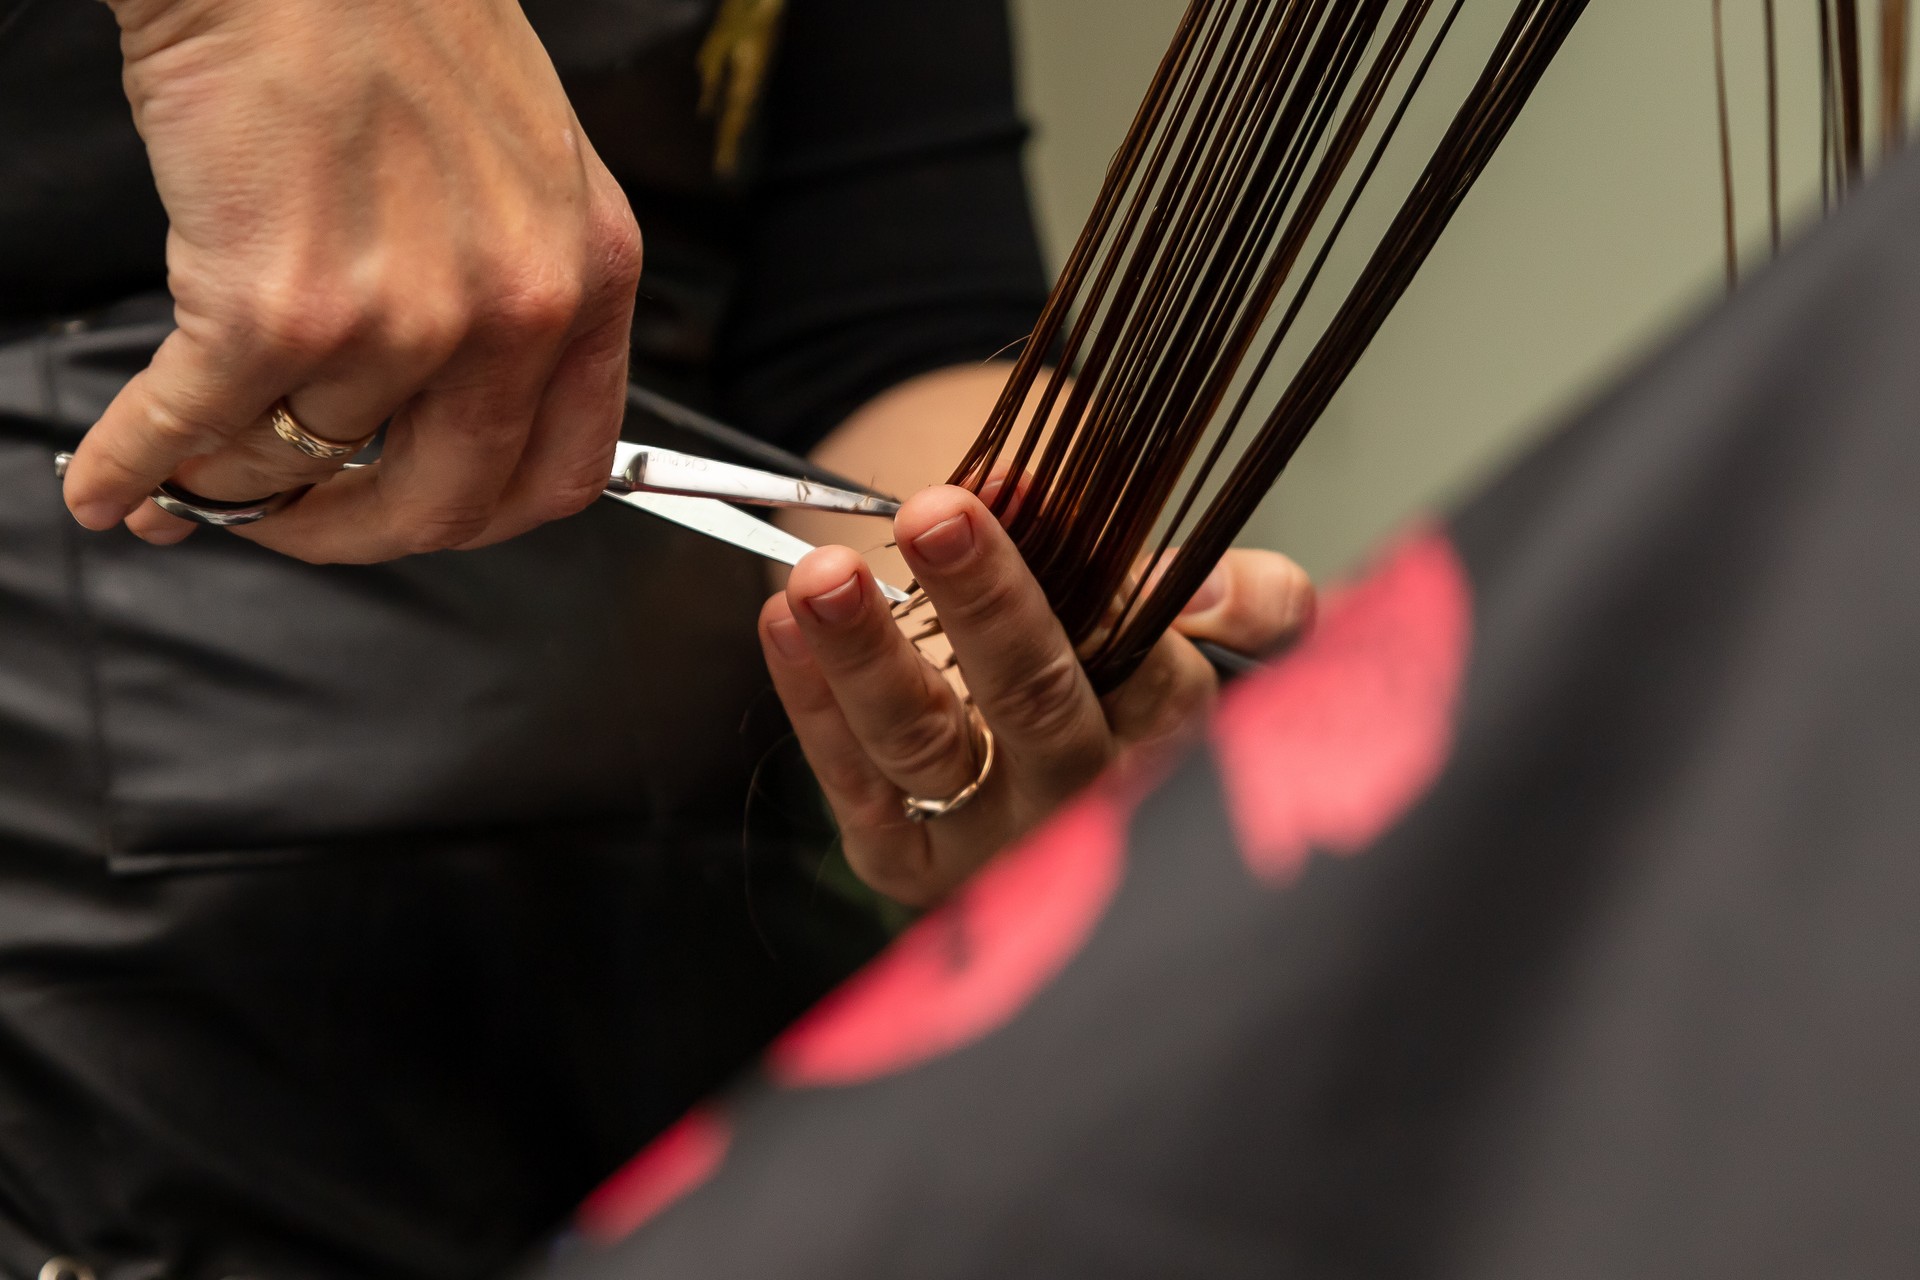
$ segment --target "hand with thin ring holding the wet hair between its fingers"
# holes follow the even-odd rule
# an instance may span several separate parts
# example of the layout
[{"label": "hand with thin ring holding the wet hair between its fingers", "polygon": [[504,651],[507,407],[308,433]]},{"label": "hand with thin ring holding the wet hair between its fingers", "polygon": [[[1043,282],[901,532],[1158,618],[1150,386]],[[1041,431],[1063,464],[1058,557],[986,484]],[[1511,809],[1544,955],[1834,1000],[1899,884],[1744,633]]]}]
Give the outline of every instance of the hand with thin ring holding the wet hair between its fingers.
[{"label": "hand with thin ring holding the wet hair between its fingers", "polygon": [[849,862],[914,906],[952,890],[1125,752],[1192,733],[1217,683],[1185,637],[1269,652],[1313,616],[1313,585],[1292,560],[1236,551],[1179,633],[1102,700],[979,499],[927,489],[906,503],[895,532],[998,739],[993,777],[972,804],[927,823],[900,808],[904,793],[960,791],[979,760],[960,697],[895,626],[860,557],[843,547],[806,557],[760,612],[760,641]]}]

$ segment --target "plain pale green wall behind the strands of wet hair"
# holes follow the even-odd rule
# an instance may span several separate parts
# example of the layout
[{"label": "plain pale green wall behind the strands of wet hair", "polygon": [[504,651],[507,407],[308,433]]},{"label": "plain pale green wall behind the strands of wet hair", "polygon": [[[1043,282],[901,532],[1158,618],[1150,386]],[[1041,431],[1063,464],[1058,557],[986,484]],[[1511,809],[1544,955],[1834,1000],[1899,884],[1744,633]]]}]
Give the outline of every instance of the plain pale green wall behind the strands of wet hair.
[{"label": "plain pale green wall behind the strands of wet hair", "polygon": [[[1060,263],[1185,0],[1014,0],[1043,234]],[[1818,25],[1780,0],[1786,223],[1820,209]],[[1475,0],[1476,59],[1511,6]],[[1766,261],[1761,0],[1726,0],[1743,267]],[[1476,27],[1475,27],[1476,23]],[[1711,0],[1597,0],[1244,541],[1317,576],[1465,497],[1726,294]],[[1438,129],[1478,61],[1427,92]],[[1413,123],[1413,121],[1409,121]],[[1405,188],[1402,188],[1404,192]],[[1371,228],[1375,234],[1379,225]]]}]

